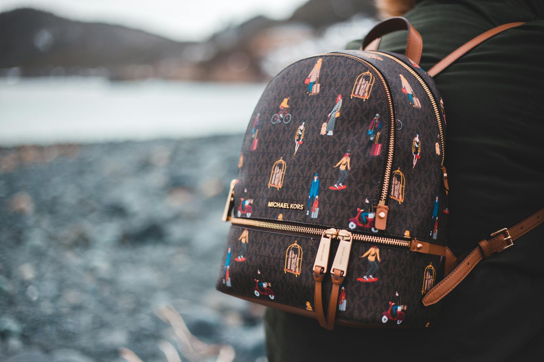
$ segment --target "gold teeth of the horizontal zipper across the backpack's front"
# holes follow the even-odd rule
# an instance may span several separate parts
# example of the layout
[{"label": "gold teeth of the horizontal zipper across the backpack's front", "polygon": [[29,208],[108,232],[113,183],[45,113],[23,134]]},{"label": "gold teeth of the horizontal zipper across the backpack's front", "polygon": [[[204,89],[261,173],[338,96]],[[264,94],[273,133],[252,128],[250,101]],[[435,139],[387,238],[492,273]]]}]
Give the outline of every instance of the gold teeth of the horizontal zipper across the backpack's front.
[{"label": "gold teeth of the horizontal zipper across the backpack's front", "polygon": [[[328,230],[328,229],[312,228],[312,227],[306,227],[306,226],[296,226],[296,225],[290,225],[290,224],[279,223],[279,222],[241,219],[239,217],[233,217],[231,219],[231,222],[232,224],[239,225],[239,226],[241,225],[241,226],[249,226],[249,227],[256,227],[256,228],[281,230],[281,231],[310,234],[310,235],[316,235],[316,236],[320,236],[326,230]],[[354,240],[358,240],[358,241],[375,242],[377,244],[410,247],[410,241],[407,241],[407,240],[384,238],[382,236],[356,234],[353,232],[351,232],[351,235],[353,235]]]}]

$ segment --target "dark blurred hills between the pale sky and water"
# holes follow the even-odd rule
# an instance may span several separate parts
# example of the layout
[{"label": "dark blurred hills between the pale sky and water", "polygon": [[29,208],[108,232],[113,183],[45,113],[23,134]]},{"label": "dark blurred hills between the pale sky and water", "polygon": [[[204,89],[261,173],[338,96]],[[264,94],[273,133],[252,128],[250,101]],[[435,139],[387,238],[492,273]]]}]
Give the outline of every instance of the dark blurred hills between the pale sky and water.
[{"label": "dark blurred hills between the pale sky and water", "polygon": [[177,42],[137,29],[16,9],[0,14],[0,76],[262,81],[300,56],[295,51],[276,64],[268,59],[275,49],[316,42],[327,28],[357,14],[374,17],[373,1],[309,0],[286,20],[257,16],[207,41]]}]

